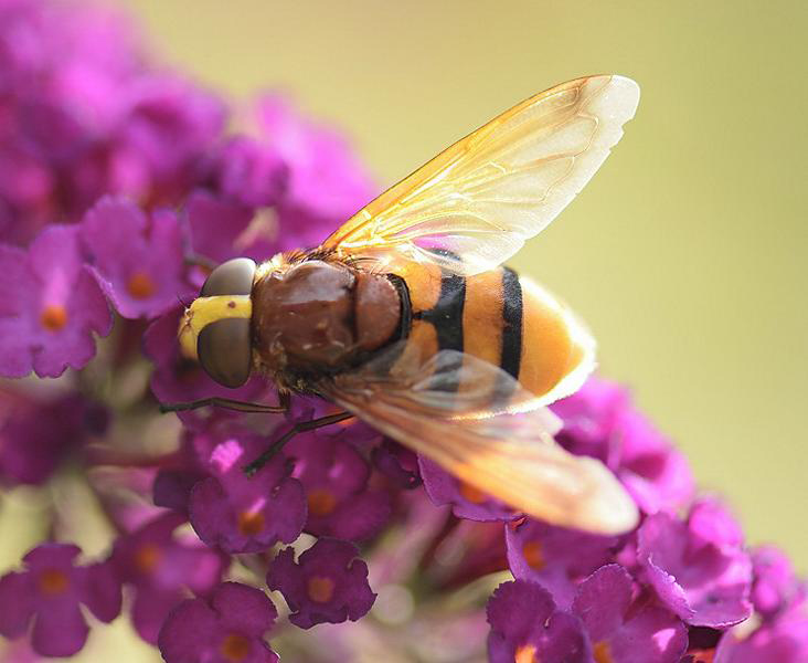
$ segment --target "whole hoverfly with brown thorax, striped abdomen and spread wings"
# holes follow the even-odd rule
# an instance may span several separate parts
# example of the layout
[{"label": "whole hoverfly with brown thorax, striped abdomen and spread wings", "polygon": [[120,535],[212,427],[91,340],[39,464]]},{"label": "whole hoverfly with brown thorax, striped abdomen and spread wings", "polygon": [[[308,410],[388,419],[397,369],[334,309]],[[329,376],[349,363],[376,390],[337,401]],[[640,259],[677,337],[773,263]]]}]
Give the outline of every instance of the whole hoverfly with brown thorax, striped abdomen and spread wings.
[{"label": "whole hoverfly with brown thorax, striped abdomen and spread wings", "polygon": [[273,380],[281,404],[266,411],[293,392],[344,411],[297,431],[355,415],[520,512],[630,529],[632,501],[602,463],[554,442],[546,409],[584,382],[595,343],[563,304],[501,264],[584,187],[638,101],[635,82],[608,75],[525,99],[316,249],[216,267],[185,311],[182,347],[224,386],[255,371]]}]

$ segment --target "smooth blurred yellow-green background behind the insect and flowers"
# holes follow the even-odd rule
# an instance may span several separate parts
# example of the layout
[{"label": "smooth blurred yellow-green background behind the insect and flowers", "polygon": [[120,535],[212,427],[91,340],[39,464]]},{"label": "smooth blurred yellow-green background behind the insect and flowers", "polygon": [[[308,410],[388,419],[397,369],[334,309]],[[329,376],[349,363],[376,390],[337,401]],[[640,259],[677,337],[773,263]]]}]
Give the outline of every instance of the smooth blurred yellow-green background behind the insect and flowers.
[{"label": "smooth blurred yellow-green background behind the insect and flowers", "polygon": [[555,83],[637,80],[623,143],[512,264],[588,322],[749,540],[808,571],[805,0],[119,3],[202,81],[342,126],[383,186]]}]

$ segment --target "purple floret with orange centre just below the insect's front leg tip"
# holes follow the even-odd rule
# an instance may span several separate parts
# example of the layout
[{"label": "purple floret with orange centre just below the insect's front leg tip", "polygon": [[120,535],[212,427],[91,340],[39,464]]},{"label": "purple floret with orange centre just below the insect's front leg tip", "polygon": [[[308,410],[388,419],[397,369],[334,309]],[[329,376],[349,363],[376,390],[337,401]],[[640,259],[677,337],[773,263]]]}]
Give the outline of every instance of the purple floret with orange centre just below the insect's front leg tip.
[{"label": "purple floret with orange centre just below the insect's front leg tip", "polygon": [[208,459],[213,476],[191,491],[191,525],[209,546],[226,552],[259,552],[278,541],[290,544],[306,522],[300,483],[278,453],[254,476],[243,467],[266,446],[256,435],[234,434],[216,444]]}]

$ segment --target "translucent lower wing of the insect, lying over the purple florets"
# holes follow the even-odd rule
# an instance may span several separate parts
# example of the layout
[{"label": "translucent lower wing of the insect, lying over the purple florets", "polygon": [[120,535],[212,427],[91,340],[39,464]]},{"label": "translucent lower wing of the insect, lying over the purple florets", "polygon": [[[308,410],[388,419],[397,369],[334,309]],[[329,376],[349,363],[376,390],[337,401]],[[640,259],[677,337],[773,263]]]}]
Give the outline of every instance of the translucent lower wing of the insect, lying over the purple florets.
[{"label": "translucent lower wing of the insect, lying over the purple florets", "polygon": [[[500,368],[455,350],[426,361],[380,357],[322,387],[325,396],[461,481],[543,520],[616,534],[637,508],[598,461],[553,434],[559,420]],[[390,370],[395,360],[394,370]]]}]

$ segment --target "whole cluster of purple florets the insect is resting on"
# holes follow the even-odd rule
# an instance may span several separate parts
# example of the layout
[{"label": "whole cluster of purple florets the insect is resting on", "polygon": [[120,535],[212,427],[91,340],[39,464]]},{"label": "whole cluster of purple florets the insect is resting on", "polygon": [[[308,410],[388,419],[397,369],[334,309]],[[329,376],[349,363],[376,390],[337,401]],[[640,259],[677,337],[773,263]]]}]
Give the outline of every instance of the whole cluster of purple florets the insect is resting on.
[{"label": "whole cluster of purple florets the insect is resting on", "polygon": [[[514,514],[355,422],[300,433],[247,476],[328,413],[313,399],[159,414],[273,401],[179,352],[181,302],[221,261],[316,245],[374,193],[345,141],[284,98],[247,110],[249,134],[225,131],[236,112],[150,62],[120,17],[0,2],[0,376],[60,378],[0,385],[0,486],[35,492],[49,533],[0,577],[9,651],[75,654],[88,615],[103,629],[125,607],[169,663],[808,659],[788,560],[747,548],[610,382],[553,409],[559,442],[637,503],[620,536]],[[106,552],[72,543],[83,516],[49,490],[66,476],[103,514]]]}]

